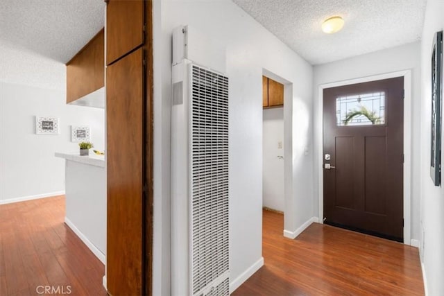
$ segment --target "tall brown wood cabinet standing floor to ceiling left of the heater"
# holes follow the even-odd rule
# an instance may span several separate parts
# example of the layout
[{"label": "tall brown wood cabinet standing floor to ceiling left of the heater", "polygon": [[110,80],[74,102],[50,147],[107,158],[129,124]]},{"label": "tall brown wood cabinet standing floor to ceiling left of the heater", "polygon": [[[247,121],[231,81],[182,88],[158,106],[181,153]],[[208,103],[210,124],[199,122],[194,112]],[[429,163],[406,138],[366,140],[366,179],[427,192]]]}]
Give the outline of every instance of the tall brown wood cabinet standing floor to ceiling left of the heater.
[{"label": "tall brown wood cabinet standing floor to ceiling left of the heater", "polygon": [[151,1],[109,0],[106,14],[107,288],[151,295]]}]

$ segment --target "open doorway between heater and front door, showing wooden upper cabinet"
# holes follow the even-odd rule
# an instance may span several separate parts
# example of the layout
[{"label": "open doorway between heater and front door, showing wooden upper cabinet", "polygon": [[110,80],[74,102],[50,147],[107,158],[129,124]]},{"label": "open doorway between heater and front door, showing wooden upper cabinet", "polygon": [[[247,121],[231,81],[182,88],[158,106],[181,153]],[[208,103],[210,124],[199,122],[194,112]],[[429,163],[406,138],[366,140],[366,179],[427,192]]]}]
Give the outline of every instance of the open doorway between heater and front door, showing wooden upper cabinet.
[{"label": "open doorway between heater and front door, showing wooden upper cabinet", "polygon": [[[285,234],[287,218],[294,216],[291,207],[293,84],[263,69],[262,87],[262,206],[264,211],[271,210],[282,219],[283,227],[277,230]],[[262,227],[267,227],[264,222],[266,219]]]}]

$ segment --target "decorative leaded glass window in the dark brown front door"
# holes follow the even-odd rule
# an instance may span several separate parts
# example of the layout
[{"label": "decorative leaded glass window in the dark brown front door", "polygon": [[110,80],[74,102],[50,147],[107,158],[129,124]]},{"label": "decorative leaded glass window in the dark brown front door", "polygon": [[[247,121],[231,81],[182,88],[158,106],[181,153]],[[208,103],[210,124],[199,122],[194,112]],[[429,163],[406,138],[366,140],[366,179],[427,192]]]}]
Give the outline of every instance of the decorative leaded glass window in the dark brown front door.
[{"label": "decorative leaded glass window in the dark brown front door", "polygon": [[384,125],[385,92],[357,94],[336,98],[336,124],[338,126]]}]

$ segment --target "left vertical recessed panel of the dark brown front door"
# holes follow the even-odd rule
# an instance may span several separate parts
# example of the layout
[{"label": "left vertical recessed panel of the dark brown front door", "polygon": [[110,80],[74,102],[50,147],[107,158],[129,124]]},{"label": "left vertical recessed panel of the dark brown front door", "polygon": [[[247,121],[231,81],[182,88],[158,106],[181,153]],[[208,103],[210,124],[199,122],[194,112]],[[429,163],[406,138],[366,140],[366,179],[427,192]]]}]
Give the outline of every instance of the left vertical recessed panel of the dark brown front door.
[{"label": "left vertical recessed panel of the dark brown front door", "polygon": [[354,164],[350,157],[355,155],[355,139],[353,137],[336,137],[336,168],[330,172],[336,173],[335,191],[336,206],[347,209],[355,209],[355,175]]}]

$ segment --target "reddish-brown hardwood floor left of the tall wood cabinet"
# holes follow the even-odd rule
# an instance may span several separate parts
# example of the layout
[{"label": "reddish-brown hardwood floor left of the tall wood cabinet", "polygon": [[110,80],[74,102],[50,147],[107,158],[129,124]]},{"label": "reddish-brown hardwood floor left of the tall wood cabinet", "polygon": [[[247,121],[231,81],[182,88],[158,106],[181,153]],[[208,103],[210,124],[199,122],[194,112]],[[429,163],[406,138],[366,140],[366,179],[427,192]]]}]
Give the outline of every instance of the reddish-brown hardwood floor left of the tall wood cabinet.
[{"label": "reddish-brown hardwood floor left of the tall wood cabinet", "polygon": [[0,205],[0,295],[107,295],[104,265],[64,219],[65,196]]}]

